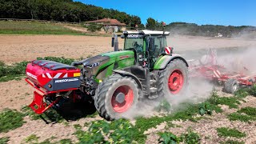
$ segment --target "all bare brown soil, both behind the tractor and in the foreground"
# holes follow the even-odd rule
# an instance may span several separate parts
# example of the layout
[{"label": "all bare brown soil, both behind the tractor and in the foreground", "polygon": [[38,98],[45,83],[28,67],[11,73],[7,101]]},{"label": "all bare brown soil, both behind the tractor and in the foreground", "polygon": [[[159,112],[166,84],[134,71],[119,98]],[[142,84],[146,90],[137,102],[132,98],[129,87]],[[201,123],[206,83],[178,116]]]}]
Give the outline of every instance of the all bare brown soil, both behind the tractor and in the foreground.
[{"label": "all bare brown soil, both behind the tractor and in the foreground", "polygon": [[[181,53],[186,51],[194,51],[205,48],[218,48],[219,50],[233,47],[254,47],[256,41],[230,39],[230,38],[202,38],[189,36],[173,36],[169,37],[170,46],[174,46],[175,50]],[[110,37],[88,37],[73,35],[0,35],[0,60],[6,63],[14,63],[21,61],[30,61],[37,57],[55,56],[66,58],[86,58],[101,54],[102,52],[111,51]],[[119,46],[122,47],[123,40],[119,40]],[[230,51],[226,52],[227,54]],[[184,53],[185,54],[185,53]],[[198,55],[197,55],[198,56]],[[197,57],[196,56],[196,57]],[[203,85],[203,83],[201,84]],[[193,86],[193,85],[190,85]],[[212,86],[212,85],[211,85]],[[202,88],[200,86],[198,89]],[[203,89],[203,88],[202,88]],[[222,87],[215,87],[220,97],[231,98],[232,94],[222,92]],[[33,100],[33,91],[24,79],[20,81],[0,82],[0,112],[6,108],[21,111],[23,106],[27,106]],[[200,94],[200,93],[199,93]],[[203,97],[203,95],[199,95]],[[209,95],[209,94],[207,94]],[[226,105],[219,105],[222,113],[214,113],[204,117],[198,117],[198,121],[173,121],[162,122],[144,132],[146,134],[146,143],[158,143],[159,132],[172,132],[180,135],[191,129],[200,136],[200,143],[218,143],[227,140],[234,142],[256,143],[256,121],[242,122],[230,121],[229,114],[236,113],[238,110],[246,107],[256,108],[256,98],[248,96],[239,100],[237,108],[230,108]],[[253,112],[256,115],[256,112]],[[82,129],[87,130],[88,125],[93,121],[102,120],[98,115],[94,118],[80,118],[78,120],[64,120],[63,122],[44,122],[42,119],[33,120],[29,116],[24,118],[25,122],[21,127],[10,130],[7,133],[0,132],[0,138],[8,137],[8,143],[26,143],[30,142],[31,134],[36,135],[35,143],[43,142],[47,138],[51,138],[50,142],[58,142],[63,138],[69,138],[72,142],[79,142],[74,134],[75,125],[84,126]],[[134,122],[133,122],[134,123]],[[242,138],[222,137],[218,134],[219,127],[228,127],[245,133]],[[1,142],[0,142],[1,143]]]}]

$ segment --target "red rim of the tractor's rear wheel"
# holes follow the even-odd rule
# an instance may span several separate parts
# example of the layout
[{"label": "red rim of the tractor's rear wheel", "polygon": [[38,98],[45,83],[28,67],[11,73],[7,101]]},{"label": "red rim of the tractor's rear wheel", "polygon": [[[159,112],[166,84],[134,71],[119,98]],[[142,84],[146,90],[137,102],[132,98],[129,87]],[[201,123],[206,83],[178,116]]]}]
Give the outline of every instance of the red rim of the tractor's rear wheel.
[{"label": "red rim of the tractor's rear wheel", "polygon": [[168,86],[172,94],[178,94],[182,90],[184,78],[181,70],[174,70],[169,77]]}]

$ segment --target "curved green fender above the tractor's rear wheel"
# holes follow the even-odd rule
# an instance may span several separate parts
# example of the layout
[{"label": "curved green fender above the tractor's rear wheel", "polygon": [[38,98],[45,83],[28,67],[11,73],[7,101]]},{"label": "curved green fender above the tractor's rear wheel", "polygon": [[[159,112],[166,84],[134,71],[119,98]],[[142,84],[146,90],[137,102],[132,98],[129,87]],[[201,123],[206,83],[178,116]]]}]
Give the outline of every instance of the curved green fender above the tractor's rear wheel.
[{"label": "curved green fender above the tractor's rear wheel", "polygon": [[166,68],[168,63],[174,59],[181,59],[183,62],[186,63],[186,66],[188,67],[188,63],[186,62],[185,58],[182,58],[179,54],[170,54],[170,55],[164,55],[158,58],[157,62],[154,63],[154,70],[163,70]]}]

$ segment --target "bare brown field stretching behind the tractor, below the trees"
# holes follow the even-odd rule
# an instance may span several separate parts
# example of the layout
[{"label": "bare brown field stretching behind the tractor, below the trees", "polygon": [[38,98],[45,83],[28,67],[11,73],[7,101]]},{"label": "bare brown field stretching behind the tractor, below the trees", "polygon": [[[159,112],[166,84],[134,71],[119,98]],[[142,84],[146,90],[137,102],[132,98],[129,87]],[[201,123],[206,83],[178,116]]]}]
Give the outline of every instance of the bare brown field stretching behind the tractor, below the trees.
[{"label": "bare brown field stretching behind the tractor, below the trees", "polygon": [[[30,61],[37,57],[55,56],[86,58],[113,50],[110,37],[75,35],[0,35],[0,61],[6,63]],[[174,36],[168,43],[175,51],[199,50],[206,48],[256,46],[254,40],[230,38],[203,38]],[[119,38],[119,47],[123,39]]]}]

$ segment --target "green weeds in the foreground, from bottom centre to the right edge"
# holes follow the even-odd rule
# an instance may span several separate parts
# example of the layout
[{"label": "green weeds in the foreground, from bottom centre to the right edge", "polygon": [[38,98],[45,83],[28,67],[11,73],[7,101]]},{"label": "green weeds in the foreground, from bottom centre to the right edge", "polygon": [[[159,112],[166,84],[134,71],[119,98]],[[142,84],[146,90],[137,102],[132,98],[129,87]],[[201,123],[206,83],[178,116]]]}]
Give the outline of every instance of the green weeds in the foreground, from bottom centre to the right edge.
[{"label": "green weeds in the foreground, from bottom centre to the right edge", "polygon": [[[197,122],[198,118],[194,118],[196,114],[212,114],[212,111],[217,113],[222,112],[222,109],[218,104],[227,105],[230,107],[237,108],[240,104],[239,100],[245,98],[247,94],[253,92],[252,89],[250,93],[247,91],[239,91],[235,97],[231,98],[220,98],[216,92],[211,94],[211,97],[199,104],[189,104],[183,103],[182,108],[174,110],[174,114],[167,114],[162,117],[154,116],[151,118],[136,118],[136,122],[132,125],[129,121],[119,119],[114,122],[105,122],[105,121],[96,121],[88,125],[85,123],[84,126],[89,126],[89,130],[82,130],[83,126],[76,125],[75,129],[76,136],[79,139],[80,143],[94,143],[94,142],[120,142],[120,143],[144,143],[146,141],[146,135],[144,132],[150,128],[154,128],[161,124],[162,122],[171,122],[174,120],[190,120],[192,122]],[[233,102],[233,103],[232,103]],[[163,101],[160,106],[156,107],[156,110],[170,110],[170,106]],[[251,107],[246,107],[244,109],[238,110],[240,113],[245,113],[252,117],[254,115],[254,109]],[[202,117],[199,117],[199,119]],[[171,126],[171,125],[170,125]],[[242,138],[246,137],[246,134],[228,128],[218,128],[218,134],[220,136],[229,136]],[[174,134],[164,132],[159,133],[159,142],[160,143],[199,143],[200,137],[197,133],[194,133],[192,130],[188,130],[186,134],[182,134],[180,137],[177,137]],[[120,141],[117,141],[119,138]]]}]

